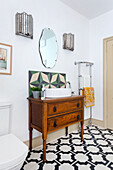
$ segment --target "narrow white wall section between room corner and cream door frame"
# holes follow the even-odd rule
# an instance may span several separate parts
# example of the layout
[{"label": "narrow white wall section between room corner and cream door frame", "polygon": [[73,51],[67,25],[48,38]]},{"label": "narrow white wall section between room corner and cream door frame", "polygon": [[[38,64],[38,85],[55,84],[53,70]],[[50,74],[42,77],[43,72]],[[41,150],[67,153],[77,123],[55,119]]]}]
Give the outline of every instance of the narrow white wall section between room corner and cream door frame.
[{"label": "narrow white wall section between room corner and cream door frame", "polygon": [[90,21],[90,59],[94,61],[93,82],[96,104],[93,117],[103,120],[103,39],[113,36],[113,11]]}]

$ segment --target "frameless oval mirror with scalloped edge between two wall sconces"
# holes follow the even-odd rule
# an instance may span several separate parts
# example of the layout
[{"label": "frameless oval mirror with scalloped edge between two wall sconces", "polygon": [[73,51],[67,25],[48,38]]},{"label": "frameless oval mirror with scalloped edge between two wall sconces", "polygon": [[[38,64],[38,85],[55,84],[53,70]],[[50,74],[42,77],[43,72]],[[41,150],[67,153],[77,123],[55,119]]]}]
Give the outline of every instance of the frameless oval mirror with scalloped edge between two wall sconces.
[{"label": "frameless oval mirror with scalloped edge between two wall sconces", "polygon": [[50,28],[42,30],[39,52],[43,65],[47,68],[53,68],[57,61],[58,45],[56,36]]}]

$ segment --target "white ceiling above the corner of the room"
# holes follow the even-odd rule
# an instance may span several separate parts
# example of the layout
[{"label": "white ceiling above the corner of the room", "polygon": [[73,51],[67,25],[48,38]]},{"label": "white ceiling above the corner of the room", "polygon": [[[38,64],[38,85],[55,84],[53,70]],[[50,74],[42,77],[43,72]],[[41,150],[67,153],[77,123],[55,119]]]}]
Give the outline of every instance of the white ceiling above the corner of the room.
[{"label": "white ceiling above the corner of the room", "polygon": [[88,19],[113,10],[113,0],[61,0]]}]

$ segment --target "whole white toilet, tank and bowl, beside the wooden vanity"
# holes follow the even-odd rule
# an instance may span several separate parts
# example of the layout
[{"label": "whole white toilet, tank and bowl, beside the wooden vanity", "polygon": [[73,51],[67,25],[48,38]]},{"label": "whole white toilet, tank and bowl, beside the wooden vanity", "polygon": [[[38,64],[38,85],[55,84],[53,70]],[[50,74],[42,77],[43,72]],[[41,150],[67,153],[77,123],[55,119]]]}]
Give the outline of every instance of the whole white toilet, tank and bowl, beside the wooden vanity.
[{"label": "whole white toilet, tank and bowl, beside the wooden vanity", "polygon": [[0,103],[0,170],[20,170],[28,147],[13,134],[6,134],[9,128],[9,109],[10,104]]}]

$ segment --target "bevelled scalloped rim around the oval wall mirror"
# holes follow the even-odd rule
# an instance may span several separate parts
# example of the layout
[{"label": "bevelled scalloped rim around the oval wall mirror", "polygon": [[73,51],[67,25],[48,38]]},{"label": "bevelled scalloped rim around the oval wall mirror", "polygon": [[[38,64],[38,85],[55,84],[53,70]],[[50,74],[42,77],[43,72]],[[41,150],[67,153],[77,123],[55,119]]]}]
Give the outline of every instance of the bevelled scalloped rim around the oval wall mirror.
[{"label": "bevelled scalloped rim around the oval wall mirror", "polygon": [[40,36],[40,39],[39,39],[39,54],[40,54],[41,61],[42,61],[42,64],[44,65],[44,67],[45,67],[45,68],[52,69],[52,68],[55,66],[55,64],[56,64],[56,62],[57,62],[57,58],[58,58],[58,41],[57,41],[56,35],[55,35],[55,33],[54,33],[55,38],[56,38],[56,43],[57,43],[57,53],[56,53],[56,54],[57,54],[57,58],[56,58],[56,60],[55,60],[55,64],[54,64],[53,67],[47,67],[47,66],[43,63],[43,56],[42,56],[41,51],[40,51],[40,40],[41,40],[41,38],[42,38],[42,36],[43,36],[43,32],[44,32],[45,29],[51,30],[51,31],[54,33],[54,31],[53,31],[52,29],[50,29],[50,28],[44,28],[44,29],[42,30],[42,33],[41,33],[41,36]]}]

